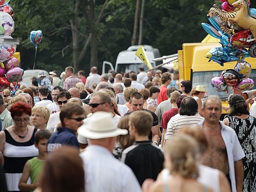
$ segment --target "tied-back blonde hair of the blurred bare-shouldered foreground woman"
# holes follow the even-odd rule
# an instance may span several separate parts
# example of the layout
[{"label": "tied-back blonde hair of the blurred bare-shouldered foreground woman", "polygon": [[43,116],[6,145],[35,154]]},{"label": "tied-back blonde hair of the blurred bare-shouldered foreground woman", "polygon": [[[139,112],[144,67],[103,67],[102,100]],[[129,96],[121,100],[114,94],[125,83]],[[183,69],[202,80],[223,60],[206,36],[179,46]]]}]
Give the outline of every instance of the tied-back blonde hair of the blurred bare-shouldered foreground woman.
[{"label": "tied-back blonde hair of the blurred bare-shouldered foreground woman", "polygon": [[198,143],[187,134],[178,134],[164,145],[164,150],[170,158],[166,166],[170,172],[180,174],[184,178],[198,178],[197,159]]}]

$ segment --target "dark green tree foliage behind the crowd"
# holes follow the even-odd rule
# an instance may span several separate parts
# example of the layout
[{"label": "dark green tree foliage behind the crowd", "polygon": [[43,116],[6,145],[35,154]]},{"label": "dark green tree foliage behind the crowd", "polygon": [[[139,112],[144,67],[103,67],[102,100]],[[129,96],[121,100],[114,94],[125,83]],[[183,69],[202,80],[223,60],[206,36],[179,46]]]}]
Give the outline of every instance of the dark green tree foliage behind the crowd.
[{"label": "dark green tree foliage behind the crowd", "polygon": [[[72,66],[73,45],[70,22],[78,21],[79,52],[82,50],[90,29],[84,17],[81,2],[88,11],[90,0],[80,2],[74,12],[76,1],[12,0],[15,31],[12,37],[20,38],[17,50],[22,54],[21,66],[32,68],[34,46],[29,40],[32,30],[42,30],[43,39],[37,50],[36,68],[48,71],[63,71]],[[95,1],[94,20],[105,0]],[[201,42],[207,35],[201,23],[208,22],[206,14],[213,4],[221,6],[219,0],[146,0],[144,12],[143,44],[152,45],[162,55],[174,54],[185,42]],[[251,1],[252,8],[256,2]],[[103,60],[115,63],[118,53],[131,44],[136,0],[108,0],[102,18],[97,26],[98,66]],[[138,41],[138,39],[137,39]],[[80,69],[89,73],[90,48],[80,63]]]}]

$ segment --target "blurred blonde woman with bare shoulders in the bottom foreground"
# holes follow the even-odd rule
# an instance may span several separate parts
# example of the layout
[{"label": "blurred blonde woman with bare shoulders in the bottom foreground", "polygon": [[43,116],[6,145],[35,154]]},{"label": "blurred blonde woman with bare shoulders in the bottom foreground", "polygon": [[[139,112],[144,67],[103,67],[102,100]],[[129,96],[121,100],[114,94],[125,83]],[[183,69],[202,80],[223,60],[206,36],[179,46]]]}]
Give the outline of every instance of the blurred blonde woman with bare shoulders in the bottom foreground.
[{"label": "blurred blonde woman with bare shoulders in the bottom foreground", "polygon": [[150,192],[212,192],[212,189],[201,184],[198,178],[198,143],[187,134],[178,134],[164,146],[166,153],[165,166],[171,176],[159,177]]}]

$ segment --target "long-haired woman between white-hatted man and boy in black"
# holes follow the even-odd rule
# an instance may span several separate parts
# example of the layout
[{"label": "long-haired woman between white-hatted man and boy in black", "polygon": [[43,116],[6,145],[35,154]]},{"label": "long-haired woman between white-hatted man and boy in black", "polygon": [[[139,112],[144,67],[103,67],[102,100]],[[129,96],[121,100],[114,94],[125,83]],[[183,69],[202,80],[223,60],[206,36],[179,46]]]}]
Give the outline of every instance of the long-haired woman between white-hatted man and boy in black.
[{"label": "long-haired woman between white-hatted man and boy in black", "polygon": [[[128,125],[128,118],[129,116],[123,116],[120,118],[117,127],[120,129],[126,129],[129,130],[129,125]],[[118,160],[121,160],[122,152],[126,148],[130,147],[133,144],[133,140],[131,139],[129,133],[126,135],[119,135],[116,137],[116,145],[112,151],[114,154],[115,158]]]}]

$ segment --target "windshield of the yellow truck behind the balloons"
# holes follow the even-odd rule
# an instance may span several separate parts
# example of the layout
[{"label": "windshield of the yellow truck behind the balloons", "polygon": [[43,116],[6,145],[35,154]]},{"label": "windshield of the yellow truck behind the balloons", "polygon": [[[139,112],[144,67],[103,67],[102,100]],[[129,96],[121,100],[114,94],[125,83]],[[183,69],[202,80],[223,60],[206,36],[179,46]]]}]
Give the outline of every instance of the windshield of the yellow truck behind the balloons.
[{"label": "windshield of the yellow truck behind the balloons", "polygon": [[[213,77],[219,77],[222,71],[209,71],[209,72],[194,72],[192,78],[192,88],[196,87],[197,85],[204,85],[206,87],[207,93],[205,97],[209,95],[218,95],[221,100],[227,100],[228,95],[233,93],[232,87],[228,86],[228,92],[217,92],[211,86],[211,79]],[[256,70],[252,70],[249,76],[254,82],[256,82]],[[254,88],[251,88],[252,90]]]}]

